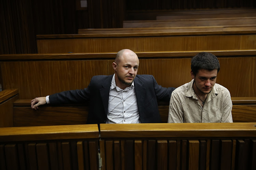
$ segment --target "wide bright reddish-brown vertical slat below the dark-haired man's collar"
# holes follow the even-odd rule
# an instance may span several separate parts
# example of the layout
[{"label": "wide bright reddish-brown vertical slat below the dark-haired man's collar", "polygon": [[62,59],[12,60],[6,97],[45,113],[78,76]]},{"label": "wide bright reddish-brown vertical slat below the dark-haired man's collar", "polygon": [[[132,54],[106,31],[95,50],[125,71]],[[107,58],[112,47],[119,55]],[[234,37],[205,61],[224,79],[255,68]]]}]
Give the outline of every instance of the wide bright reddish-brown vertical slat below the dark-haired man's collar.
[{"label": "wide bright reddish-brown vertical slat below the dark-haired man's collar", "polygon": [[189,170],[198,170],[199,162],[199,141],[198,140],[188,140],[188,169]]}]

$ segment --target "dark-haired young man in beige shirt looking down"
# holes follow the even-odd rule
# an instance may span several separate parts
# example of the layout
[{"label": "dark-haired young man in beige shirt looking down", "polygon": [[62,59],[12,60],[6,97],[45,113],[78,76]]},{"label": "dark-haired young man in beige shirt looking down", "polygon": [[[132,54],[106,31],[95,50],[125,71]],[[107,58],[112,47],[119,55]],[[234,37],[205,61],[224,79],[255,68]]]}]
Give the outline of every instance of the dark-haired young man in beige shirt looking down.
[{"label": "dark-haired young man in beige shirt looking down", "polygon": [[168,123],[233,122],[232,102],[227,88],[216,82],[217,57],[201,52],[191,60],[191,82],[171,95]]}]

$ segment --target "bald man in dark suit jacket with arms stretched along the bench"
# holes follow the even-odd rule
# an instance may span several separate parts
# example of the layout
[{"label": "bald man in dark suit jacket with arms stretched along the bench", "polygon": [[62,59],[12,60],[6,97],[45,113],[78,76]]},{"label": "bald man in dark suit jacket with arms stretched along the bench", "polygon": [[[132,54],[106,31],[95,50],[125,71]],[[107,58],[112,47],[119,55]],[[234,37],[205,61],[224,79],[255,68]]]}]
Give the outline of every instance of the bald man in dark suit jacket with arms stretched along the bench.
[{"label": "bald man in dark suit jacket with arms stretched along the bench", "polygon": [[31,100],[31,108],[43,104],[90,102],[88,124],[160,123],[157,100],[170,101],[173,87],[157,84],[153,75],[137,75],[139,58],[123,49],[112,63],[114,75],[97,75],[87,88],[63,91]]}]

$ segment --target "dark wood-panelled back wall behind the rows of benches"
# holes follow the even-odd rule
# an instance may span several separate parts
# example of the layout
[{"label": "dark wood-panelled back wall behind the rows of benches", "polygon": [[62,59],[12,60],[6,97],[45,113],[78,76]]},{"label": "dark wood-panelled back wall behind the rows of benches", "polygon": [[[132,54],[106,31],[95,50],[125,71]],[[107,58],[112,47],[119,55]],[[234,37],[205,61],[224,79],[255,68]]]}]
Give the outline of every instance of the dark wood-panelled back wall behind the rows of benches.
[{"label": "dark wood-panelled back wall behind the rows of benches", "polygon": [[73,0],[0,0],[0,4],[0,54],[37,53],[35,36],[40,34],[76,34],[78,29],[84,28],[122,28],[124,18],[127,20],[134,11],[256,7],[253,0],[87,0],[88,7],[82,10]]}]

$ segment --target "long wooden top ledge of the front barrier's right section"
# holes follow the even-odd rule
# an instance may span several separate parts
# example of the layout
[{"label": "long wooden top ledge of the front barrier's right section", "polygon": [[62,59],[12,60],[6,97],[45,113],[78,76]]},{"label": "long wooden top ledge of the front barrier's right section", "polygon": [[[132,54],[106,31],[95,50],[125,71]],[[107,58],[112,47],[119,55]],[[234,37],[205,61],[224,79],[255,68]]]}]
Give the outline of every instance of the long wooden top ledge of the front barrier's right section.
[{"label": "long wooden top ledge of the front barrier's right section", "polygon": [[100,124],[101,138],[256,137],[253,123]]}]

